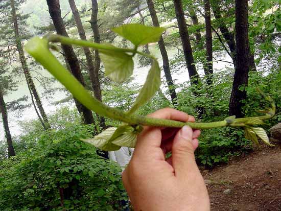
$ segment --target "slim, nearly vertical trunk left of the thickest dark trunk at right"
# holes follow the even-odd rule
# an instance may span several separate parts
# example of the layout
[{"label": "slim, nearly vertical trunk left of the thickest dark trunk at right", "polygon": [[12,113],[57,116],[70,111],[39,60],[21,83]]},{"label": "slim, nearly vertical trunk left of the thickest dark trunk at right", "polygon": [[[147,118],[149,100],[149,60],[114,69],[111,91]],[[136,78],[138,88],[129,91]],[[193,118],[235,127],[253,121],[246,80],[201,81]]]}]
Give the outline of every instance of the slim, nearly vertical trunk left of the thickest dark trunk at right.
[{"label": "slim, nearly vertical trunk left of the thickest dark trunk at right", "polygon": [[205,23],[206,23],[206,59],[207,59],[207,83],[212,84],[213,74],[213,40],[212,40],[212,24],[210,17],[210,2],[204,0]]}]

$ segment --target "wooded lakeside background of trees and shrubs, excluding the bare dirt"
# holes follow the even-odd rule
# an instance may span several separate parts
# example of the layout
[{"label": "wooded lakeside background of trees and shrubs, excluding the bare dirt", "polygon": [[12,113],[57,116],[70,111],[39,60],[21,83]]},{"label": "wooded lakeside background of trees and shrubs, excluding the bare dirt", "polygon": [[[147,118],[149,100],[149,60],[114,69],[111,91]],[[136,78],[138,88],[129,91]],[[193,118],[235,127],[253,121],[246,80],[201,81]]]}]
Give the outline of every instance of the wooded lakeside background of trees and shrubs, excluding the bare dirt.
[{"label": "wooded lakeside background of trees and shrubs, excluding the bare dirt", "polygon": [[[277,106],[269,129],[281,120],[279,6],[276,0],[1,1],[0,209],[110,210],[122,209],[126,199],[119,167],[80,141],[118,122],[91,113],[26,54],[22,46],[32,36],[57,32],[127,47],[112,27],[166,27],[158,43],[140,48],[158,58],[162,71],[160,89],[137,113],[174,107],[198,122],[257,115],[265,106],[260,87]],[[56,56],[93,96],[122,110],[151,65],[138,56],[133,76],[118,84],[104,76],[97,51],[62,45]],[[212,167],[251,149],[242,130],[204,130],[196,158]]]}]

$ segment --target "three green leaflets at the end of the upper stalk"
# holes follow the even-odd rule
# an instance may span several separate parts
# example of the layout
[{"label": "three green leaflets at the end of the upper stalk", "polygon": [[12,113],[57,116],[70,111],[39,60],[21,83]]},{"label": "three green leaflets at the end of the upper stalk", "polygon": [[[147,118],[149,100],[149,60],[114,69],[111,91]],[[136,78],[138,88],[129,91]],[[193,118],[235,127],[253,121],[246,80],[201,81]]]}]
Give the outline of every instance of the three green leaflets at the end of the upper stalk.
[{"label": "three green leaflets at the end of the upper stalk", "polygon": [[[135,49],[138,45],[157,42],[165,28],[148,27],[139,24],[127,24],[112,29],[113,32],[130,40]],[[113,81],[122,83],[133,74],[134,62],[133,56],[126,52],[112,50],[100,50],[101,58],[105,66],[105,75]],[[147,80],[140,90],[138,97],[128,114],[135,112],[140,106],[151,99],[160,86],[160,67],[156,60],[153,60],[152,66],[147,76]]]}]

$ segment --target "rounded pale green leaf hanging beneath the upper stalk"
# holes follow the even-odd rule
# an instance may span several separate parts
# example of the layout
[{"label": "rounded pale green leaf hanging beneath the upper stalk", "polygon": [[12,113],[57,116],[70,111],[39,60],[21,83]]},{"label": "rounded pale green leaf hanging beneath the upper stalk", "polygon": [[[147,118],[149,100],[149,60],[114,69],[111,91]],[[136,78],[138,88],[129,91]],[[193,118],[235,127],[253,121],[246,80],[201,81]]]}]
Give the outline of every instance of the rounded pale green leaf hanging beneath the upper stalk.
[{"label": "rounded pale green leaf hanging beneath the upper stalk", "polygon": [[132,56],[116,51],[100,51],[100,56],[105,67],[105,75],[113,81],[122,83],[133,74]]}]

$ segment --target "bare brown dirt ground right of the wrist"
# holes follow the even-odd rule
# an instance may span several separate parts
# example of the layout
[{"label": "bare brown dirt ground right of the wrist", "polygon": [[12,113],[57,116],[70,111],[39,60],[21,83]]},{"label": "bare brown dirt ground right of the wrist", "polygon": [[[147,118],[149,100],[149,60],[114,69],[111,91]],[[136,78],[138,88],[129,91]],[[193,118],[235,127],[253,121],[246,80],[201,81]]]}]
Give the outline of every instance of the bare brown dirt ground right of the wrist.
[{"label": "bare brown dirt ground right of the wrist", "polygon": [[202,170],[212,210],[281,210],[281,142],[273,144]]}]

